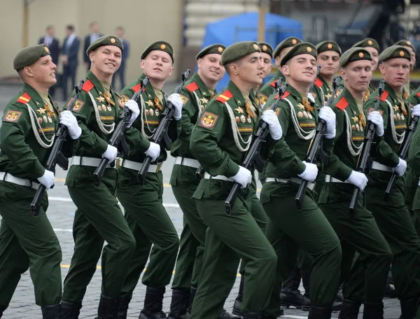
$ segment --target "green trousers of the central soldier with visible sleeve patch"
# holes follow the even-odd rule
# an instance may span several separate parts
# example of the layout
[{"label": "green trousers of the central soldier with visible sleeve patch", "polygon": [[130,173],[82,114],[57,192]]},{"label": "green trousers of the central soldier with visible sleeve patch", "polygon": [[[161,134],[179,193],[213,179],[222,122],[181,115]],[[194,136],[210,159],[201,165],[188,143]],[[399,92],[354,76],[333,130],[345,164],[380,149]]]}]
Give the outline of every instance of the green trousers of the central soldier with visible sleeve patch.
[{"label": "green trousers of the central soldier with visible sleeve patch", "polygon": [[219,180],[202,180],[201,183],[204,189],[207,189],[206,185],[214,190],[220,187],[216,198],[203,198],[203,192],[199,190],[194,194],[198,212],[209,228],[191,319],[218,318],[237,278],[240,259],[245,263],[241,310],[265,312],[276,267],[276,255],[250,213],[251,191],[241,192],[228,216],[225,213],[225,199],[232,183]]}]

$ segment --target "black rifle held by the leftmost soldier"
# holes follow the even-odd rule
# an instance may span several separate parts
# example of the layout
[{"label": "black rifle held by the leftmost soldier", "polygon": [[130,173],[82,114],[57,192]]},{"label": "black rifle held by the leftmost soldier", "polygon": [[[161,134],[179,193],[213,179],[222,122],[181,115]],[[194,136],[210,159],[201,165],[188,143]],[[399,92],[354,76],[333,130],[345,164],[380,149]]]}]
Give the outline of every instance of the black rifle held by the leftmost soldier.
[{"label": "black rifle held by the leftmost soldier", "polygon": [[[73,110],[73,107],[76,104],[76,101],[78,99],[78,95],[79,95],[80,91],[82,90],[82,87],[83,87],[84,83],[85,83],[85,81],[80,80],[78,85],[74,86],[74,90],[75,90],[76,94],[74,95],[73,99],[71,100],[71,104],[70,104],[69,108],[67,108],[68,111]],[[48,156],[47,164],[45,165],[45,170],[55,171],[55,165],[56,164],[59,164],[59,166],[62,169],[64,169],[64,171],[67,170],[69,160],[62,153],[62,148],[63,148],[63,145],[64,145],[64,141],[66,141],[67,136],[69,136],[69,130],[64,125],[59,124],[57,132],[55,132],[54,143],[52,144],[51,153],[50,153],[50,156]],[[54,185],[52,185],[52,187],[54,187]],[[38,190],[36,190],[36,193],[35,193],[35,197],[34,197],[34,199],[32,199],[31,212],[32,212],[32,214],[34,214],[35,217],[38,217],[39,208],[41,208],[43,195],[44,195],[46,189],[47,189],[47,187],[45,187],[45,185],[39,184]]]}]

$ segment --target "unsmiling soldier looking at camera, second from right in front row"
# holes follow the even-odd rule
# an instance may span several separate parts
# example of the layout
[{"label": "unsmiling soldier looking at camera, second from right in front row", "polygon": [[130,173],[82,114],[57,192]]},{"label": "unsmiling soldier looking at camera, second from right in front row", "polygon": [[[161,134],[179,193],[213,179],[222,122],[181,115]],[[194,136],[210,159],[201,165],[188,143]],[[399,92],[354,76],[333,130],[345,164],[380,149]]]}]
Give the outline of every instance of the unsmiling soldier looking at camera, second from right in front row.
[{"label": "unsmiling soldier looking at camera, second from right in front row", "polygon": [[[332,106],[337,118],[337,133],[332,155],[325,166],[326,183],[318,205],[330,221],[342,243],[342,281],[344,280],[340,319],[357,318],[363,302],[363,318],[384,318],[386,279],[391,265],[391,248],[382,236],[372,213],[364,205],[363,193],[359,194],[354,217],[349,214],[349,204],[354,186],[363,192],[367,184],[364,173],[356,171],[365,138],[366,117],[363,97],[372,77],[372,57],[364,48],[351,48],[339,59],[340,75],[344,89]],[[384,134],[384,121],[379,112],[371,112],[367,120],[377,126],[376,140]],[[354,287],[349,277],[355,251],[365,259],[365,295],[353,296]],[[350,275],[351,276],[351,275]]]}]

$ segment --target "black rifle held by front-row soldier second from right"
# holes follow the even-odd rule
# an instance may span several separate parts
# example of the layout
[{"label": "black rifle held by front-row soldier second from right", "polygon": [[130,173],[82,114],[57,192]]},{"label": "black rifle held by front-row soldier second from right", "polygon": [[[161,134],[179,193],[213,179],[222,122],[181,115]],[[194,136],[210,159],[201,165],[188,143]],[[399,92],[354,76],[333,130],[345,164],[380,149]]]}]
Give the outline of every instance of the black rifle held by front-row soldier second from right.
[{"label": "black rifle held by front-row soldier second from right", "polygon": [[[376,101],[373,111],[379,110],[379,106],[381,104],[382,93],[384,93],[384,90],[385,90],[384,80],[381,80],[381,82],[379,83],[378,90],[379,90],[378,97],[377,97],[377,101]],[[357,167],[357,171],[360,173],[366,174],[367,171],[369,171],[370,166],[372,166],[372,160],[370,158],[370,150],[372,149],[374,134],[376,134],[376,125],[368,121],[367,130],[365,132],[365,140],[363,141],[363,150],[361,153],[362,156],[360,157],[360,161],[358,162],[358,167]],[[354,217],[354,207],[356,206],[356,201],[357,201],[359,192],[360,192],[359,188],[355,186],[353,190],[353,197],[351,197],[350,207],[349,207],[351,218]]]}]

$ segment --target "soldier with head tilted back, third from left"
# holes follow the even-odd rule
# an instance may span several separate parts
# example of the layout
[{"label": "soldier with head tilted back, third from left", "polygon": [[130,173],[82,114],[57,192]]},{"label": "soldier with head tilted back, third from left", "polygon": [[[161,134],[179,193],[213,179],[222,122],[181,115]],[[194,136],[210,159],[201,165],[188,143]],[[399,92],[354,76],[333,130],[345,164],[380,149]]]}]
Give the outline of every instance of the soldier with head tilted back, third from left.
[{"label": "soldier with head tilted back, third from left", "polygon": [[[179,94],[167,94],[162,87],[174,71],[174,50],[165,41],[156,41],[144,50],[141,55],[141,69],[143,74],[127,85],[121,92],[120,105],[139,91],[141,81],[148,76],[149,82],[141,92],[141,115],[134,122],[134,127],[144,139],[149,140],[163,118],[167,103],[171,102],[175,108],[174,120],[168,128],[170,139],[176,138],[177,121],[181,120],[182,101]],[[165,286],[169,284],[179,249],[179,237],[174,224],[162,204],[163,176],[161,166],[167,160],[168,146],[151,143],[155,153],[153,162],[148,169],[144,185],[139,185],[137,173],[146,158],[141,151],[130,152],[124,159],[120,169],[118,181],[118,199],[125,208],[125,220],[136,239],[136,250],[122,290],[120,316],[126,318],[127,308],[132,293],[146,266],[149,254],[151,256],[147,270],[144,272],[142,283],[147,286],[144,298],[144,309],[140,319],[167,318],[162,311]],[[152,248],[153,244],[153,248]]]}]

